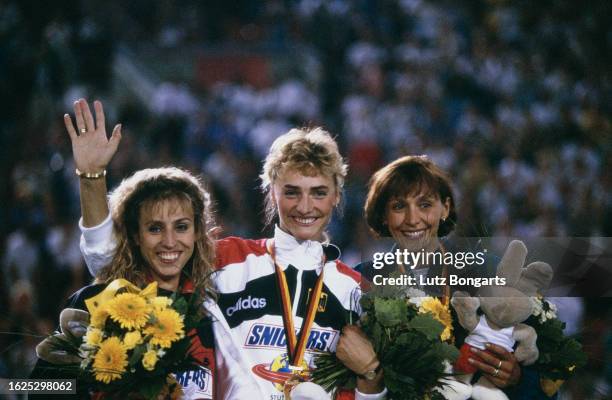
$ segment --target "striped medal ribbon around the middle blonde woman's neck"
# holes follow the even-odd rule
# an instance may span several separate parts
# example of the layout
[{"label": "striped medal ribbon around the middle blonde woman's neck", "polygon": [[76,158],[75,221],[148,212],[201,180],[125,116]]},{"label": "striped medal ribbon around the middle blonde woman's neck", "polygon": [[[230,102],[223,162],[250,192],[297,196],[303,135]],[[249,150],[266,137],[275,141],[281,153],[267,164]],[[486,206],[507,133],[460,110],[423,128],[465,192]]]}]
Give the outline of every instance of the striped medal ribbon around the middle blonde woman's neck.
[{"label": "striped medal ribbon around the middle blonde woman's neck", "polygon": [[[289,357],[289,363],[295,367],[299,367],[304,358],[304,352],[306,351],[306,341],[310,336],[310,330],[314,322],[315,316],[317,315],[317,309],[319,308],[319,301],[321,299],[321,292],[323,291],[323,268],[317,278],[315,287],[313,288],[310,298],[308,299],[308,308],[306,316],[302,321],[302,329],[300,330],[299,337],[295,335],[295,325],[293,323],[293,311],[291,307],[291,295],[289,293],[289,286],[287,285],[287,278],[285,272],[276,262],[274,255],[274,240],[268,240],[266,242],[266,248],[268,254],[272,257],[274,262],[274,270],[276,272],[276,284],[278,287],[281,305],[283,308],[283,326],[285,328],[285,336],[287,338],[287,355]],[[325,256],[321,260],[321,264],[325,265]]]}]

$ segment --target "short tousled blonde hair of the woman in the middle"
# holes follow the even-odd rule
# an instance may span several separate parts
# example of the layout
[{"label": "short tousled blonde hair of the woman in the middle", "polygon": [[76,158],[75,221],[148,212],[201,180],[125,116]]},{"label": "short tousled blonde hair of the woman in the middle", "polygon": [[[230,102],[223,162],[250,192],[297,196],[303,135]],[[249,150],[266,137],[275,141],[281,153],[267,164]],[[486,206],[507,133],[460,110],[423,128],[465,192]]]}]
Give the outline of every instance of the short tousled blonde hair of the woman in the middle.
[{"label": "short tousled blonde hair of the woman in the middle", "polygon": [[305,176],[320,174],[332,177],[341,196],[348,165],[340,155],[338,143],[323,128],[294,128],[279,136],[272,143],[259,175],[266,195],[266,224],[270,224],[276,215],[272,185],[288,170]]}]

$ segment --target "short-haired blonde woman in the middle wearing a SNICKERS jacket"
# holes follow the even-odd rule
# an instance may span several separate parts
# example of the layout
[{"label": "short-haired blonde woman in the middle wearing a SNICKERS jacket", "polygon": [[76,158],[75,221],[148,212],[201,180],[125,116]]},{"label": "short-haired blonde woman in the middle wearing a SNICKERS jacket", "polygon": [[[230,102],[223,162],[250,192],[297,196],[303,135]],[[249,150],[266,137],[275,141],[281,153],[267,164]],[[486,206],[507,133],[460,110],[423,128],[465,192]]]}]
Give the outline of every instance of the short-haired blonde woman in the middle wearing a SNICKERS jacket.
[{"label": "short-haired blonde woman in the middle wearing a SNICKERS jacket", "polygon": [[[112,157],[113,137],[102,143],[108,153],[98,153]],[[308,378],[313,355],[321,351],[336,351],[358,374],[357,389],[346,392],[349,398],[385,396],[371,344],[346,326],[348,315],[358,313],[360,275],[326,244],[325,229],[340,202],[346,172],[336,142],[323,129],[293,129],[272,144],[261,178],[268,220],[277,221],[274,237],[217,242],[213,280],[222,315],[213,325],[215,341],[217,330],[229,331],[226,339],[238,349],[216,353],[219,398],[238,398],[225,391],[243,379],[237,370],[256,381],[259,393],[251,397],[282,398]],[[85,190],[81,248],[90,271],[99,274],[116,251],[113,221],[103,191],[93,185]]]}]

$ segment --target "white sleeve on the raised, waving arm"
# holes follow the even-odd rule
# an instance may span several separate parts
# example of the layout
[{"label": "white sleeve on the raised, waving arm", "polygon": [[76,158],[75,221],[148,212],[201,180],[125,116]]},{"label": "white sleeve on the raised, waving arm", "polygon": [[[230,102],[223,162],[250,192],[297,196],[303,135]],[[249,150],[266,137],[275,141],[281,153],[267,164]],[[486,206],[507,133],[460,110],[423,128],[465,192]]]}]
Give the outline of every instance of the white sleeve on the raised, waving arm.
[{"label": "white sleeve on the raised, waving arm", "polygon": [[117,242],[113,236],[113,220],[110,214],[100,225],[86,228],[83,226],[83,218],[79,219],[81,229],[81,253],[85,258],[85,264],[92,276],[96,276],[102,268],[113,260]]}]

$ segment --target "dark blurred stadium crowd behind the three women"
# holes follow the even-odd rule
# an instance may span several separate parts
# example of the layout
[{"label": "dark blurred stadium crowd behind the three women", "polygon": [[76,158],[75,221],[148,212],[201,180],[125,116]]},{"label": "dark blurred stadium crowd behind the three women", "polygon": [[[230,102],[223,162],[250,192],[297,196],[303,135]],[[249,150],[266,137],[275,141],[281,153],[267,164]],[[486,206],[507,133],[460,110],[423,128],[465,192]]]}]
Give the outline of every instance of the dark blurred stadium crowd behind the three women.
[{"label": "dark blurred stadium crowd behind the three women", "polygon": [[[200,173],[224,235],[270,232],[261,160],[322,125],[350,165],[331,226],[349,264],[371,241],[369,177],[406,154],[453,177],[459,235],[610,237],[610,15],[567,0],[1,1],[0,331],[18,334],[0,334],[0,376],[28,374],[91,279],[62,121],[74,100],[123,124],[110,187],[144,167]],[[591,386],[575,393],[612,381],[609,311],[584,304]]]}]

